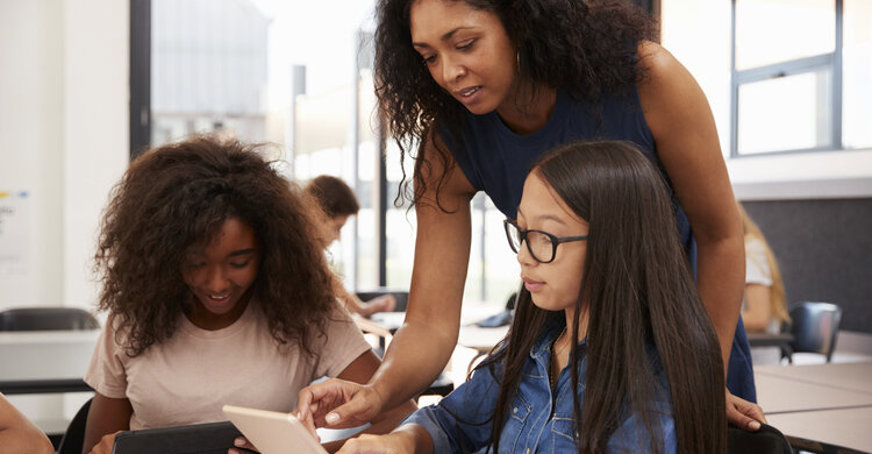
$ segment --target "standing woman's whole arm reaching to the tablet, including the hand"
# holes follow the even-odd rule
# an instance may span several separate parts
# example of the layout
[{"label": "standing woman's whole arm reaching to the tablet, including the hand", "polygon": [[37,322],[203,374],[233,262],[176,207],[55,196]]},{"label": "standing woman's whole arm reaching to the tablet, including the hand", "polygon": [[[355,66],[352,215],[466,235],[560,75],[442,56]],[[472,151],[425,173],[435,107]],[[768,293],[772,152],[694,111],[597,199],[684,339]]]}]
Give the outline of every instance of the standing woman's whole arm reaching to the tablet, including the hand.
[{"label": "standing woman's whole arm reaching to the tablet, including the hand", "polygon": [[418,230],[405,322],[367,385],[330,380],[301,391],[301,419],[330,427],[367,421],[425,389],[454,351],[469,263],[469,201],[475,189],[450,157],[448,174],[438,186],[446,167],[435,156],[433,140],[431,135],[424,145],[429,165],[422,167],[423,175],[415,175],[416,183],[424,179],[427,190],[415,204]]}]

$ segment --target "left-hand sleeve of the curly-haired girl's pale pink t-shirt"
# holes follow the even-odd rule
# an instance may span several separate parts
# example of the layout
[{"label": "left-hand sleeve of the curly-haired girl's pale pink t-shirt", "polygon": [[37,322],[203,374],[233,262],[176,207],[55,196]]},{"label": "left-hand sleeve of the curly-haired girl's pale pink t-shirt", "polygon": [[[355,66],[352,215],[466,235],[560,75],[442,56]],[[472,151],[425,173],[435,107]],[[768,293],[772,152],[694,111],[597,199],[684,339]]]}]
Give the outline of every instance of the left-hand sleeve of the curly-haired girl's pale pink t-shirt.
[{"label": "left-hand sleeve of the curly-haired girl's pale pink t-shirt", "polygon": [[118,345],[114,317],[109,317],[97,339],[91,363],[85,372],[85,383],[98,393],[114,399],[127,397],[127,371],[124,349]]}]

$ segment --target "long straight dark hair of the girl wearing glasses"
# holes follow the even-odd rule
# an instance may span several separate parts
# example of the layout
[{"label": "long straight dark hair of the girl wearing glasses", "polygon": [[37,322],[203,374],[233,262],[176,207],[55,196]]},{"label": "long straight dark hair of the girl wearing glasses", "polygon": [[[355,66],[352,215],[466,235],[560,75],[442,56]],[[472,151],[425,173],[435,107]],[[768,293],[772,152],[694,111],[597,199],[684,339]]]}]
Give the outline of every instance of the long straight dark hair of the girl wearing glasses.
[{"label": "long straight dark hair of the girl wearing glasses", "polygon": [[[590,225],[570,331],[578,452],[602,452],[628,416],[626,408],[641,416],[652,437],[650,451],[662,452],[650,403],[652,396],[670,391],[678,452],[724,452],[720,348],[691,277],[660,173],[634,145],[618,141],[562,145],[543,155],[531,172]],[[587,384],[580,408],[576,346],[581,311],[587,312],[589,323]],[[479,366],[503,377],[492,420],[496,449],[524,362],[551,316],[522,288],[507,338]],[[646,353],[649,344],[656,348],[669,391],[656,377],[659,366]]]}]

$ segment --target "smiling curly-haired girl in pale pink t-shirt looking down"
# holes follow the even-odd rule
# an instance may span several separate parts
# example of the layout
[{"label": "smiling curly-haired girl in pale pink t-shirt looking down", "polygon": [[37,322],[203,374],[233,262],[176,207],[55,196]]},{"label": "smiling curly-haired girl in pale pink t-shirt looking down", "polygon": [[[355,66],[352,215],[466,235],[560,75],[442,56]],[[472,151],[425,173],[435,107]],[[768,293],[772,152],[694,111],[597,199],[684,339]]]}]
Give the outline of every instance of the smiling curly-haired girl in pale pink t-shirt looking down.
[{"label": "smiling curly-haired girl in pale pink t-shirt looking down", "polygon": [[288,412],[319,377],[365,383],[378,368],[331,292],[312,207],[255,147],[198,137],[155,148],[113,191],[85,452],[110,452],[120,430],[225,420],[224,404]]}]

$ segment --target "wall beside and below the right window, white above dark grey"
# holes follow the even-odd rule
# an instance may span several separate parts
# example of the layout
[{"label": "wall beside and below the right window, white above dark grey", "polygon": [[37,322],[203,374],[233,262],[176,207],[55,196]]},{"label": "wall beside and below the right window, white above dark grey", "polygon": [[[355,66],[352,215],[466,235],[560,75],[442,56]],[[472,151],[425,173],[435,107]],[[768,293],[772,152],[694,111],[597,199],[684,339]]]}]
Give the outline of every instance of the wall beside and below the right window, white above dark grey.
[{"label": "wall beside and below the right window, white above dark grey", "polygon": [[705,92],[736,197],[782,265],[788,298],[842,305],[872,333],[872,150],[731,158],[730,2],[661,0],[662,44]]}]

